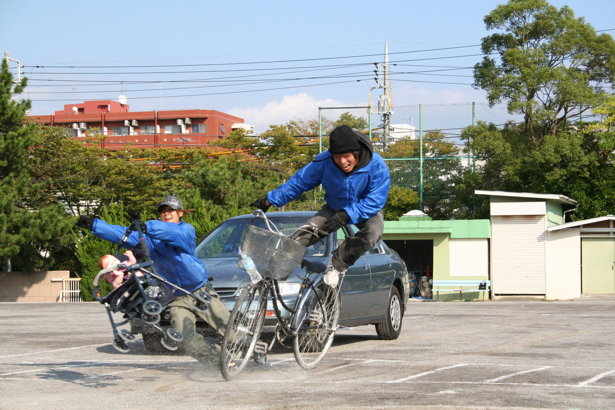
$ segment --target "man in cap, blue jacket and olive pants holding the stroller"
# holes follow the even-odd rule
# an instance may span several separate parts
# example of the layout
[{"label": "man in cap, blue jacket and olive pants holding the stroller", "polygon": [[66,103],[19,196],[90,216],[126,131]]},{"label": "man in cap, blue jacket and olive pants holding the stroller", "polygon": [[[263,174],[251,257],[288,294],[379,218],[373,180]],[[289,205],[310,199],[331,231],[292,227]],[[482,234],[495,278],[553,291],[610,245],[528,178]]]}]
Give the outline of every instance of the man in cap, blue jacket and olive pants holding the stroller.
[{"label": "man in cap, blue jacket and olive pants holding the stroller", "polygon": [[[191,224],[181,220],[184,215],[183,203],[173,195],[165,197],[158,205],[160,221],[143,223],[135,211],[128,211],[127,219],[140,223],[141,232],[156,264],[158,272],[169,282],[189,292],[204,290],[212,295],[207,312],[194,309],[194,299],[188,294],[175,291],[175,301],[169,304],[173,328],[183,335],[181,347],[204,365],[217,365],[220,361],[220,346],[214,345],[196,333],[197,315],[218,333],[224,334],[231,313],[220,301],[220,296],[207,282],[205,266],[196,257],[196,232]],[[126,227],[110,225],[102,219],[81,215],[77,226],[84,227],[93,235],[117,243]],[[139,242],[137,232],[132,232],[124,247],[133,248]]]}]

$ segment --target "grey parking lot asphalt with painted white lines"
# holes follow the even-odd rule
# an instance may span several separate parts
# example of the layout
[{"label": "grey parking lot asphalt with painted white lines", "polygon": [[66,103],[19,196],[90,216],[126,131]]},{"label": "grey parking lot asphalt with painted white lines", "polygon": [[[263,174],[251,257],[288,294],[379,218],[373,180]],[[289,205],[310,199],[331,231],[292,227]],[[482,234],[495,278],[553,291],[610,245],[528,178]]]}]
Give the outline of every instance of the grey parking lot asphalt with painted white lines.
[{"label": "grey parking lot asphalt with painted white lines", "polygon": [[3,303],[0,409],[615,408],[615,299],[409,305],[395,341],[339,331],[314,370],[276,348],[225,382],[140,336],[116,352],[98,303]]}]

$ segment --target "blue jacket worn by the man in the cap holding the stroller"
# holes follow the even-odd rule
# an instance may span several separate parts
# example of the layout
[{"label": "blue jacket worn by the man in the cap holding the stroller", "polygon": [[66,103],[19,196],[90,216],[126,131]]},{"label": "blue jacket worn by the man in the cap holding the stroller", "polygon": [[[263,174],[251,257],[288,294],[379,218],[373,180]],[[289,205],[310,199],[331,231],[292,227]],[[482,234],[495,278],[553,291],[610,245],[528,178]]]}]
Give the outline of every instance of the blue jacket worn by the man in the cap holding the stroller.
[{"label": "blue jacket worn by the man in the cap holding the stroller", "polygon": [[[159,274],[187,291],[194,291],[207,283],[205,266],[196,257],[196,232],[194,226],[180,221],[178,224],[147,221],[145,240]],[[119,242],[127,227],[110,225],[94,219],[92,234],[113,243]],[[124,248],[132,249],[139,242],[137,232],[132,232]],[[175,291],[175,294],[181,294]]]}]

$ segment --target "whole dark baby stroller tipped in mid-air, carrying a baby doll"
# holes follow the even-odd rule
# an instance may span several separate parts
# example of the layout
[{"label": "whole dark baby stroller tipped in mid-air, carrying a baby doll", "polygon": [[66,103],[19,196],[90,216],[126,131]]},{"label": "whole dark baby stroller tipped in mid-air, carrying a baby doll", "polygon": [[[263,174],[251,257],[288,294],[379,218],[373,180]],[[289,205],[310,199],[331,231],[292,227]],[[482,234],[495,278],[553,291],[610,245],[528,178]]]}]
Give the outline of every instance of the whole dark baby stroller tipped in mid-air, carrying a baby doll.
[{"label": "whole dark baby stroller tipped in mid-air, carrying a baby doll", "polygon": [[[113,328],[113,347],[119,352],[128,353],[130,351],[126,342],[134,341],[135,335],[128,329],[118,330],[117,326],[125,325],[131,319],[137,318],[143,320],[148,325],[154,326],[154,328],[165,335],[162,337],[161,342],[166,349],[177,350],[179,342],[183,340],[181,333],[172,328],[164,329],[158,326],[160,313],[175,299],[173,292],[178,290],[191,295],[196,303],[194,309],[200,312],[207,311],[207,304],[212,301],[212,297],[204,291],[190,293],[177,285],[173,285],[173,283],[168,282],[164,277],[157,274],[154,262],[149,255],[148,245],[137,222],[130,224],[122,239],[117,243],[115,250],[116,258],[119,256],[120,248],[124,245],[132,231],[137,231],[141,238],[138,245],[135,246],[135,249],[138,248],[139,250],[137,263],[128,267],[122,263],[100,270],[92,282],[94,286],[93,298],[105,305],[109,321],[111,321],[111,327]],[[100,278],[113,272],[113,270],[119,269],[125,269],[126,272],[130,272],[130,277],[124,280],[117,289],[101,298],[98,291]],[[124,320],[119,322],[113,320],[111,313],[117,312],[124,313]]]}]

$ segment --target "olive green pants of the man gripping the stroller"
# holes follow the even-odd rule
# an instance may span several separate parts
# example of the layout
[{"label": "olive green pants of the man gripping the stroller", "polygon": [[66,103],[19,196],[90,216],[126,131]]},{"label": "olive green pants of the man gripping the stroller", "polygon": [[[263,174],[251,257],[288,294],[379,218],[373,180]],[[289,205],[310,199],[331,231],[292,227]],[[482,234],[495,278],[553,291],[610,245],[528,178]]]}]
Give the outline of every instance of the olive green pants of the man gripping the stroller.
[{"label": "olive green pants of the man gripping the stroller", "polygon": [[183,294],[169,304],[171,321],[173,328],[180,331],[184,337],[180,343],[181,349],[204,365],[216,365],[220,362],[220,346],[206,341],[202,334],[196,333],[196,317],[205,320],[216,332],[224,336],[231,312],[220,301],[220,296],[213,290],[212,285],[205,283],[200,290],[212,295],[212,302],[207,304],[207,312],[195,310],[194,298]]}]

